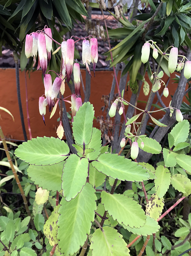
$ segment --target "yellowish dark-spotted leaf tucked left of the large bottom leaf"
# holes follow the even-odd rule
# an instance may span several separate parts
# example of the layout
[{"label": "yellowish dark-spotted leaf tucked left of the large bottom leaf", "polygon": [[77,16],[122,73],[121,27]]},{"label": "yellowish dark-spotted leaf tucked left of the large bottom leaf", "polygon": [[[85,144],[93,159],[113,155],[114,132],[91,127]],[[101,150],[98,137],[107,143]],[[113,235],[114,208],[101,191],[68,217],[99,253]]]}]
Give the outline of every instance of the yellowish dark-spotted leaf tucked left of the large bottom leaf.
[{"label": "yellowish dark-spotted leaf tucked left of the large bottom leaf", "polygon": [[49,216],[43,228],[43,233],[48,238],[51,246],[54,246],[55,244],[58,243],[56,236],[57,236],[57,230],[58,230],[57,221],[59,216],[58,214],[59,207],[60,205],[57,205],[54,208],[53,212],[51,213],[51,216]]}]

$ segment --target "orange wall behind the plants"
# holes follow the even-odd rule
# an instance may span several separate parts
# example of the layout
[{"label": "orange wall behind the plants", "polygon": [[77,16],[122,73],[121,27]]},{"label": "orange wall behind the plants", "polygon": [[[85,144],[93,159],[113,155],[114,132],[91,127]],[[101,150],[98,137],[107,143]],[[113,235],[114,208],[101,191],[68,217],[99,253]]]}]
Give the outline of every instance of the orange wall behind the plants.
[{"label": "orange wall behind the plants", "polygon": [[[113,80],[113,71],[96,71],[95,78],[91,79],[91,96],[90,102],[94,105],[95,117],[103,115],[101,111],[101,102],[102,95],[108,95],[110,92],[111,83]],[[175,76],[175,74],[174,74]],[[82,77],[85,84],[85,71],[82,70]],[[118,80],[120,79],[120,72],[118,74]],[[146,78],[146,77],[145,77]],[[149,80],[146,78],[149,82]],[[164,76],[164,81],[167,82],[168,77]],[[173,84],[173,81],[169,83],[169,95],[173,95],[177,84]],[[14,69],[0,69],[0,106],[7,108],[14,116],[15,122],[12,121],[11,117],[4,111],[0,111],[1,118],[0,125],[2,126],[3,132],[7,138],[24,140],[22,133],[22,126],[19,114],[18,100],[17,100],[17,90],[16,90],[16,74]],[[149,82],[150,87],[151,83]],[[27,86],[28,86],[28,106],[29,106],[29,116],[30,116],[30,125],[32,137],[37,136],[53,136],[57,137],[56,129],[58,126],[57,118],[59,117],[59,110],[57,109],[55,115],[49,119],[49,111],[47,108],[47,113],[45,115],[46,126],[43,123],[42,116],[39,114],[38,110],[38,99],[44,94],[44,85],[42,81],[42,71],[38,70],[30,73],[30,79],[27,75]],[[188,86],[187,86],[188,87]],[[27,131],[27,136],[29,139],[28,125],[27,125],[27,115],[26,115],[26,94],[25,94],[25,77],[24,72],[20,72],[20,89],[21,89],[21,99],[22,107],[24,113],[24,121]],[[161,93],[163,87],[160,89]],[[117,90],[115,91],[117,92]],[[66,85],[66,90],[64,96],[70,95],[70,89]],[[83,90],[81,88],[82,100],[84,99]],[[125,92],[124,98],[130,100],[131,91],[130,88]],[[140,92],[140,100],[147,100],[148,96],[144,96],[143,90]],[[69,100],[69,99],[68,99]],[[162,100],[168,106],[171,97],[168,96],[167,99],[162,96]],[[186,101],[186,99],[184,99]],[[155,96],[154,103],[157,101]],[[65,103],[67,111],[70,111],[70,104]],[[138,107],[144,109],[145,104],[139,103]],[[156,109],[155,109],[156,110]],[[161,118],[165,112],[158,112],[154,116],[155,118]],[[94,126],[99,128],[99,123],[94,122]]]}]

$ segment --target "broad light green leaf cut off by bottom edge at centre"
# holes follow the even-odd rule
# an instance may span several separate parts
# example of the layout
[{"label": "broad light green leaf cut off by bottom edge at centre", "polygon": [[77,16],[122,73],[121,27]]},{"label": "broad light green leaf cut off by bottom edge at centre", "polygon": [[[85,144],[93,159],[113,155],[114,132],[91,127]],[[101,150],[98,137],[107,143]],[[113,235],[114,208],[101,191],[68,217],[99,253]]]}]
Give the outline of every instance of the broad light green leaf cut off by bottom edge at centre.
[{"label": "broad light green leaf cut off by bottom edge at centre", "polygon": [[112,227],[96,229],[91,238],[90,250],[92,250],[92,256],[130,256],[130,250],[123,236]]}]

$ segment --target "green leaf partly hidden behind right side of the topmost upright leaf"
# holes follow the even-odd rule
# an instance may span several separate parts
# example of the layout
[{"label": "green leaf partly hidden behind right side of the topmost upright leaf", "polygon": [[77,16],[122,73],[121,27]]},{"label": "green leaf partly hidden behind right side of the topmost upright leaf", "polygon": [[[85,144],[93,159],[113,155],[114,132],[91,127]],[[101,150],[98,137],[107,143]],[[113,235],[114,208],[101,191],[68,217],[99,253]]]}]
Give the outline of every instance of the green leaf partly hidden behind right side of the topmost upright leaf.
[{"label": "green leaf partly hidden behind right side of the topmost upright leaf", "polygon": [[101,150],[101,131],[99,129],[93,127],[91,141],[85,148],[93,148],[95,150],[88,154],[89,160],[95,160],[99,156]]}]

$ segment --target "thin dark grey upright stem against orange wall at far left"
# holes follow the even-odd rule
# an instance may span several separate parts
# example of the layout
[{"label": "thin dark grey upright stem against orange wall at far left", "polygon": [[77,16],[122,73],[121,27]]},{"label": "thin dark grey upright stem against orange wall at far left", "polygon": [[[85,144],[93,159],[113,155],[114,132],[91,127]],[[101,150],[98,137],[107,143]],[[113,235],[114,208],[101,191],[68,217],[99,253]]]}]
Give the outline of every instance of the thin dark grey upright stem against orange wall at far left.
[{"label": "thin dark grey upright stem against orange wall at far left", "polygon": [[24,140],[27,141],[27,135],[26,135],[26,129],[24,124],[24,116],[23,116],[23,110],[22,110],[22,103],[21,103],[21,92],[20,92],[20,81],[19,81],[19,65],[18,65],[18,58],[15,54],[15,71],[16,71],[16,85],[17,85],[17,98],[18,98],[18,104],[19,104],[19,111],[20,111],[20,117],[21,117],[21,124],[23,129],[23,135]]}]

